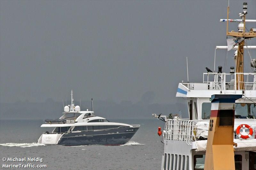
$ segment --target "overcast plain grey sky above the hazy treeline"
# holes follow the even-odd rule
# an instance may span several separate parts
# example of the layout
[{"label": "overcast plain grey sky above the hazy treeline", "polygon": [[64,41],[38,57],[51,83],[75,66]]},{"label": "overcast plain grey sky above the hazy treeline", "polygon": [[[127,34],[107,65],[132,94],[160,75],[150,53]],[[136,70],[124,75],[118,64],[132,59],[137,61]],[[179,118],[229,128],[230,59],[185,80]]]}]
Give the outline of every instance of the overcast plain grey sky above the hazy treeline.
[{"label": "overcast plain grey sky above the hazy treeline", "polygon": [[[240,19],[243,1],[230,1]],[[256,18],[256,1],[247,19]],[[202,82],[226,45],[228,1],[0,1],[0,101],[177,103],[178,83]],[[255,23],[246,27],[256,27]],[[230,29],[237,30],[237,23]],[[255,38],[256,39],[256,38]],[[256,40],[248,45],[255,45]],[[255,58],[255,50],[250,51]],[[234,51],[223,70],[235,66]],[[226,51],[216,54],[216,69]],[[245,55],[245,71],[250,57]]]}]

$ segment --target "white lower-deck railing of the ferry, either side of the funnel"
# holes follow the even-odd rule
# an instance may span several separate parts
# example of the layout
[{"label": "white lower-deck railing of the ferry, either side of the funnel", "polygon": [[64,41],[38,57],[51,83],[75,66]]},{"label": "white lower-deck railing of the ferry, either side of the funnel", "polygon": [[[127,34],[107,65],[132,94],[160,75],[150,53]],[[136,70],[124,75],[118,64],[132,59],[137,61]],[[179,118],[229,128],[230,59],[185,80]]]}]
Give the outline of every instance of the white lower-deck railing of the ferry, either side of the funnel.
[{"label": "white lower-deck railing of the ferry, either side of the funnel", "polygon": [[[235,119],[235,127],[248,124],[253,129],[251,138],[256,138],[256,119]],[[186,141],[188,145],[197,140],[206,140],[208,136],[209,119],[207,120],[174,120],[166,119],[163,137],[166,140]],[[248,133],[248,132],[247,132]],[[234,133],[234,138],[236,134]]]}]

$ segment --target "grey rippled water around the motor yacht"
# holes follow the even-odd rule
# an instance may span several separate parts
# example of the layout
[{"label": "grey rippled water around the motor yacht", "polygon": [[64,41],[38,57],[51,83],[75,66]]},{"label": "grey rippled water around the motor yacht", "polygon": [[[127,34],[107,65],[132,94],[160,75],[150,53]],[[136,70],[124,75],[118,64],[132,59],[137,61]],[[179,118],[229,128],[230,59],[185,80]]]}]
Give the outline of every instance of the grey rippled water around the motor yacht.
[{"label": "grey rippled water around the motor yacht", "polygon": [[[35,165],[47,165],[47,168],[34,169],[160,169],[164,145],[157,135],[157,127],[164,122],[151,119],[109,119],[111,122],[140,124],[140,129],[130,142],[122,146],[36,146],[38,137],[44,128],[42,120],[0,120],[0,169],[3,163],[22,162],[3,161],[3,157],[43,158],[43,163],[29,162]],[[13,144],[8,144],[13,143]],[[31,144],[31,145],[30,145]],[[9,146],[4,146],[9,145]],[[14,146],[12,146],[14,145]],[[31,146],[31,147],[21,147]],[[27,164],[28,162],[23,162]],[[18,168],[20,169],[20,168]],[[22,169],[22,168],[21,168]],[[23,168],[31,169],[31,168]]]}]

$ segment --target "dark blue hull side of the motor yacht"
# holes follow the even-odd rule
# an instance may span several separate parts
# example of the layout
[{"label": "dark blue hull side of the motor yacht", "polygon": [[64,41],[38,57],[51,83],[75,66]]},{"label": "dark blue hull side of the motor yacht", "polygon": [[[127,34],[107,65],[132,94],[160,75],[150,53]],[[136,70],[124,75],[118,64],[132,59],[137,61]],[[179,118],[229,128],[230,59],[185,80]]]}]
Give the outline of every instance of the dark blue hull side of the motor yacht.
[{"label": "dark blue hull side of the motor yacht", "polygon": [[122,145],[127,143],[139,128],[92,130],[64,134],[58,144],[74,145]]}]

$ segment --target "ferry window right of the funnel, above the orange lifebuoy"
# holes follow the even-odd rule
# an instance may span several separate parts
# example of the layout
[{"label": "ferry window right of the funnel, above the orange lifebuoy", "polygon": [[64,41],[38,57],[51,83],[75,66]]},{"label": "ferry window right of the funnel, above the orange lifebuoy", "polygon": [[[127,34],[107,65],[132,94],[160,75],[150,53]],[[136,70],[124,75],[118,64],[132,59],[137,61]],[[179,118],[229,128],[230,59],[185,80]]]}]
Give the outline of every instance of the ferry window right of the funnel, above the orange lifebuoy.
[{"label": "ferry window right of the funnel, above the orange lifebuoy", "polygon": [[236,103],[235,117],[238,119],[255,119],[256,104],[254,103]]}]

